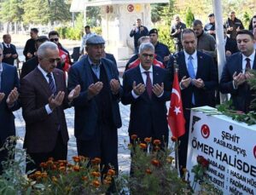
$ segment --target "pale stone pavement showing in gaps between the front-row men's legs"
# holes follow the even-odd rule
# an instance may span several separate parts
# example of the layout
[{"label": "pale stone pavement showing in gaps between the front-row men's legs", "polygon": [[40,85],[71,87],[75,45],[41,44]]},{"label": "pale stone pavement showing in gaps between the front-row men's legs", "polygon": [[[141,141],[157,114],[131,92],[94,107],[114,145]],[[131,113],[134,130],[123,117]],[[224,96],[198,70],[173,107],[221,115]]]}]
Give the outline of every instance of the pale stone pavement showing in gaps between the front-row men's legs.
[{"label": "pale stone pavement showing in gaps between the front-row men's legs", "polygon": [[[130,106],[124,106],[121,103],[120,112],[123,122],[123,126],[118,130],[118,139],[119,139],[119,170],[122,172],[129,172],[130,170],[130,151],[128,150],[129,136],[128,136],[128,124],[130,120]],[[68,152],[67,160],[72,162],[72,157],[77,156],[77,146],[76,139],[74,137],[74,110],[73,107],[65,110],[66,120],[67,120],[67,129],[69,134],[68,141]],[[16,135],[24,139],[25,135],[25,122],[22,118],[21,109],[15,112],[15,126],[16,126]],[[18,141],[17,147],[21,148],[23,146],[23,141]]]}]

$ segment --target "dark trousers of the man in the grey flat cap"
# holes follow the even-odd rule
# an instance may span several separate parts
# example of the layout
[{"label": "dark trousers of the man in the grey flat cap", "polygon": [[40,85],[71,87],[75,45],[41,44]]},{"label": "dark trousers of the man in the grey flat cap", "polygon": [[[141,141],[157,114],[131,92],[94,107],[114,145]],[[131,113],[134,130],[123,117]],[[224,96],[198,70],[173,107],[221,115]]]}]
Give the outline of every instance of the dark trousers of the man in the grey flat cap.
[{"label": "dark trousers of the man in the grey flat cap", "polygon": [[96,133],[90,140],[77,139],[78,153],[87,158],[101,158],[102,173],[106,173],[109,164],[118,174],[118,135],[117,129],[109,124],[97,124]]}]

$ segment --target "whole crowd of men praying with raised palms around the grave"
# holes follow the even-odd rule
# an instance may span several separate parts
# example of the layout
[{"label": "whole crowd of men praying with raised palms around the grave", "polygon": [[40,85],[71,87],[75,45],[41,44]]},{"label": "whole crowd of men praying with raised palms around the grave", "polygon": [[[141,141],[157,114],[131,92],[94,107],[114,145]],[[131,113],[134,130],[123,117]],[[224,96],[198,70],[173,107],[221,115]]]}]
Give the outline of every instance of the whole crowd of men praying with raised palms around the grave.
[{"label": "whole crowd of men praying with raised palms around the grave", "polygon": [[[178,138],[179,168],[186,167],[189,137],[189,108],[215,106],[220,90],[230,94],[233,106],[249,112],[255,91],[247,80],[248,71],[256,69],[256,15],[251,30],[244,30],[235,12],[224,26],[227,62],[218,83],[214,14],[209,23],[193,22],[186,28],[179,16],[171,26],[170,36],[177,54],[158,40],[158,30],[142,25],[131,30],[135,54],[127,62],[123,84],[113,54],[105,52],[103,37],[90,32],[85,26],[79,53],[72,65],[70,55],[60,43],[58,32],[38,37],[38,29],[31,29],[23,54],[20,80],[14,66],[18,57],[9,34],[3,35],[0,49],[0,146],[10,135],[15,135],[13,112],[22,108],[26,123],[24,148],[34,163],[26,164],[26,171],[40,169],[48,158],[67,159],[67,123],[64,110],[74,107],[74,135],[78,155],[102,159],[102,171],[112,166],[118,174],[118,133],[121,127],[119,101],[131,105],[129,135],[140,141],[151,137],[168,143],[166,101],[170,100],[175,63],[183,101],[185,135]],[[228,36],[227,36],[228,35]],[[68,73],[67,73],[68,72]],[[67,86],[66,86],[67,80]],[[7,151],[0,152],[0,161]],[[2,172],[2,166],[0,165]]]}]

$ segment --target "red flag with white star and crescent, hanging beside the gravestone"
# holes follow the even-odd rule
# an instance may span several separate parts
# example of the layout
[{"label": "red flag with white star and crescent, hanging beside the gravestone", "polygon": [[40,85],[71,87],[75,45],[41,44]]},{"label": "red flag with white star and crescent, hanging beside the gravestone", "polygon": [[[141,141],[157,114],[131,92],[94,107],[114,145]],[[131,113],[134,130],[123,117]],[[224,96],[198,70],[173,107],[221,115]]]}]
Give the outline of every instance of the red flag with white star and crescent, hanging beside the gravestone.
[{"label": "red flag with white star and crescent, hanging beside the gravestone", "polygon": [[168,112],[168,124],[172,131],[172,136],[180,137],[185,134],[185,119],[183,116],[183,102],[177,78],[177,72],[174,73],[172,84],[171,103]]}]

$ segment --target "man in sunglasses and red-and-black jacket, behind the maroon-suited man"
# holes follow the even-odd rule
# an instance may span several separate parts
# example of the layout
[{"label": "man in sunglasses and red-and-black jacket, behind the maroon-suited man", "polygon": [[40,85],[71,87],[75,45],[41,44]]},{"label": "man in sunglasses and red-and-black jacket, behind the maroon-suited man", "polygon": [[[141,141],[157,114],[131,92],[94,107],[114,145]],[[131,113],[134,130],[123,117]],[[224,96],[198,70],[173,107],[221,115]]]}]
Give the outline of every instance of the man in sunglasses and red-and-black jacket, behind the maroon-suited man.
[{"label": "man in sunglasses and red-and-black jacket, behind the maroon-suited man", "polygon": [[48,34],[49,41],[55,43],[59,49],[59,56],[61,58],[60,63],[58,63],[57,68],[61,69],[64,72],[68,72],[69,67],[71,66],[70,55],[67,49],[64,49],[59,42],[60,35],[58,32],[51,31]]}]

